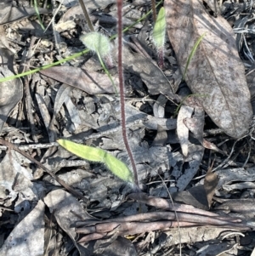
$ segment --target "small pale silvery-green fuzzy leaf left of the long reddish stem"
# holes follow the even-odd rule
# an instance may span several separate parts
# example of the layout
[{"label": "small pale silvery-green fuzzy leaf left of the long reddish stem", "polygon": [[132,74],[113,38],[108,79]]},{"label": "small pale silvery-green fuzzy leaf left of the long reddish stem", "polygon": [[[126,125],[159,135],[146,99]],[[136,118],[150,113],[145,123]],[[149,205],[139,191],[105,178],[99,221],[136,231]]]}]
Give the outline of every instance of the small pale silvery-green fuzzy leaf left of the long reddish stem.
[{"label": "small pale silvery-green fuzzy leaf left of the long reddish stem", "polygon": [[88,49],[100,54],[102,58],[111,53],[109,38],[99,32],[89,32],[86,35],[82,35],[80,40]]}]

